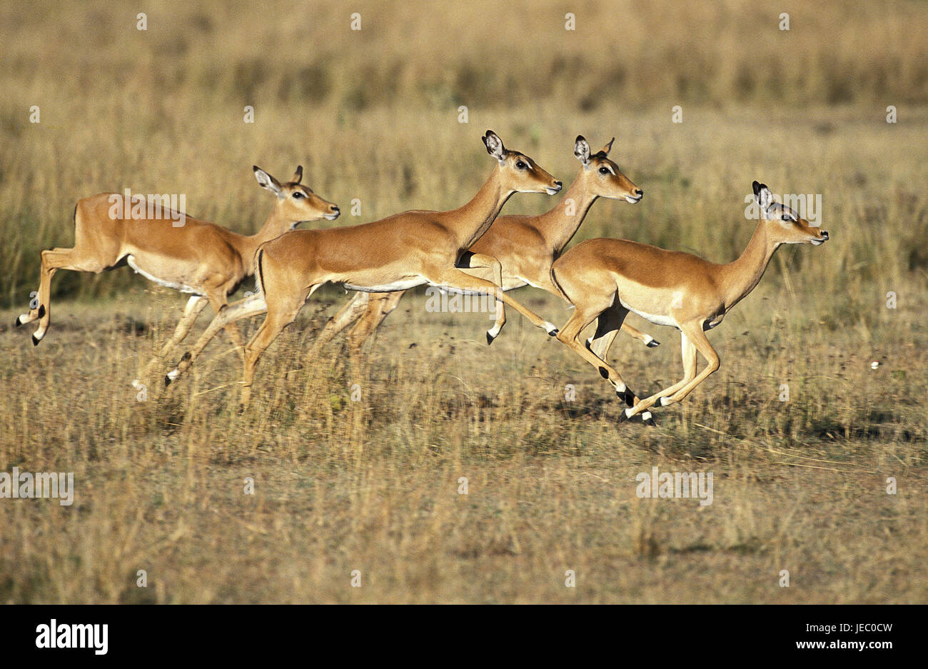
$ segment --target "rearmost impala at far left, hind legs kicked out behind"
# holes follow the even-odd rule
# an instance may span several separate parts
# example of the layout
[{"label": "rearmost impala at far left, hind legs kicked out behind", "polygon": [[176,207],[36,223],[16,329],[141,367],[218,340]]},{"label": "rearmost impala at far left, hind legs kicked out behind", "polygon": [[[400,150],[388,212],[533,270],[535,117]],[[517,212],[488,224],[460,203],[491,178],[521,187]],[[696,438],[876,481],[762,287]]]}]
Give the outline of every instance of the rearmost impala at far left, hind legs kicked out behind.
[{"label": "rearmost impala at far left, hind legs kicked out behind", "polygon": [[[115,193],[100,193],[78,200],[74,208],[74,247],[42,251],[35,307],[28,314],[19,315],[16,325],[38,319],[39,327],[32,334],[32,343],[38,345],[42,341],[51,318],[51,279],[59,269],[98,274],[128,264],[135,272],[161,286],[193,295],[187,301],[174,336],[148,364],[148,372],[187,336],[207,302],[219,313],[227,304],[227,296],[246,277],[254,274],[253,258],[258,246],[303,221],[338,218],[337,206],[300,185],[302,166],[297,167],[287,184],[281,184],[258,167],[253,170],[258,183],[277,195],[277,202],[262,228],[251,236],[239,235],[179,212],[165,212],[159,218],[134,217],[134,203],[135,211],[143,208],[137,206],[137,201]],[[113,215],[114,212],[119,215]],[[177,220],[184,224],[175,227]],[[227,331],[240,346],[238,327],[233,324]]]}]

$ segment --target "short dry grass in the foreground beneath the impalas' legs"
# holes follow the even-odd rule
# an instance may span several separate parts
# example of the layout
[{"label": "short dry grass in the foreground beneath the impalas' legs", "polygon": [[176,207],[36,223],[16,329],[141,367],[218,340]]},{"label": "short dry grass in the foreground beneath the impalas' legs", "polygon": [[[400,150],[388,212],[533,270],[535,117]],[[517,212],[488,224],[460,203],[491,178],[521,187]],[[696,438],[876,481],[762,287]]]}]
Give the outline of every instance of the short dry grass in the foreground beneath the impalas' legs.
[{"label": "short dry grass in the foreground beneath the impalas' legs", "polygon": [[[617,428],[601,380],[535,328],[510,323],[488,350],[483,316],[426,314],[421,299],[384,326],[360,403],[337,348],[290,371],[309,313],[269,350],[245,415],[225,342],[172,392],[152,384],[139,403],[127,380],[164,332],[130,334],[157,314],[127,305],[175,296],[70,303],[34,352],[22,333],[0,335],[5,384],[18,389],[4,399],[0,427],[17,439],[0,462],[73,470],[77,481],[72,508],[0,505],[17,528],[4,534],[0,595],[923,602],[923,332],[903,328],[914,339],[889,343],[899,326],[887,320],[871,331],[884,343],[865,353],[853,331],[797,314],[784,289],[758,292],[763,310],[716,331],[717,377],[664,410],[656,430]],[[553,300],[530,303],[564,315]],[[626,378],[655,388],[676,376],[671,339],[646,354],[622,342]],[[788,404],[780,382],[791,384]],[[714,472],[714,504],[639,500],[635,476],[653,466]],[[458,495],[461,476],[469,495]],[[889,476],[899,495],[885,494]],[[138,569],[148,590],[135,587]],[[563,586],[567,569],[575,590]]]}]

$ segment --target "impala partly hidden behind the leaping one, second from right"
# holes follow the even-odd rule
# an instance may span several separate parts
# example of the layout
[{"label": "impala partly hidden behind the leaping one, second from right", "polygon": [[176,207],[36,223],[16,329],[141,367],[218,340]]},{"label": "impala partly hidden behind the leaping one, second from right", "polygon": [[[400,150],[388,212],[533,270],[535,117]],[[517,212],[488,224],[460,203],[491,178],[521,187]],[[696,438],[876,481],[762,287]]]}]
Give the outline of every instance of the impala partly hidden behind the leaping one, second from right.
[{"label": "impala partly hidden behind the leaping one, second from right", "polygon": [[[583,135],[574,141],[574,156],[583,167],[563,199],[549,212],[538,216],[499,216],[470,251],[496,258],[503,268],[503,290],[534,286],[560,296],[551,283],[551,264],[558,259],[564,247],[574,238],[583,224],[586,212],[598,198],[625,199],[635,204],[644,192],[635,186],[619,166],[609,160],[612,140],[599,152],[590,154],[589,144]],[[470,272],[468,272],[470,274]],[[342,329],[356,321],[348,334],[348,344],[356,353],[384,318],[396,308],[405,291],[390,293],[356,292],[342,310],[329,319],[316,337],[308,357],[313,358],[319,349],[331,341]],[[623,323],[626,334],[654,347],[659,344],[651,335],[644,334]],[[487,333],[487,342],[493,338]]]}]

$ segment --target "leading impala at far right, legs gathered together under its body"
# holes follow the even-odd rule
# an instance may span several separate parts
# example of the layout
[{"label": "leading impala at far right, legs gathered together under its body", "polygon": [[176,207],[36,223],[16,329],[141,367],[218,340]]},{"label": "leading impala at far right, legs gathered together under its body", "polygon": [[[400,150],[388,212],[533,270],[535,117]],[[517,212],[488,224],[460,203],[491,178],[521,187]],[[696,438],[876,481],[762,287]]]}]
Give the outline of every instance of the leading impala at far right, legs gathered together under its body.
[{"label": "leading impala at far right, legs gathered together under its body", "polygon": [[[577,244],[551,268],[561,294],[575,307],[558,339],[599,367],[602,377],[624,396],[628,408],[620,421],[640,414],[652,423],[651,406],[681,401],[718,369],[718,354],[704,330],[715,328],[754,289],[781,244],[818,246],[828,239],[825,230],[810,226],[792,209],[775,202],[770,189],[756,181],[754,198],[760,221],[747,248],[732,263],[709,263],[690,253],[626,239],[599,238]],[[680,331],[683,380],[643,400],[606,362],[615,333],[628,312]],[[594,320],[598,320],[596,333],[587,348],[577,337]],[[708,363],[699,375],[697,351]]]}]

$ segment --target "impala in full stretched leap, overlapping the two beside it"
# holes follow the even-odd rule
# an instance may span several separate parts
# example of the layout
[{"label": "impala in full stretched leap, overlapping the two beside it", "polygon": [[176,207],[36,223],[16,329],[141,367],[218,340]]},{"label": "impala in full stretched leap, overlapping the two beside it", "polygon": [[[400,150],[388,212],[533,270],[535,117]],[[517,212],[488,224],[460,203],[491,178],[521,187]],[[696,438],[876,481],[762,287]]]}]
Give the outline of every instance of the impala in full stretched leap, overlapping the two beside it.
[{"label": "impala in full stretched leap, overlapping the two beside it", "polygon": [[[217,315],[197,342],[195,353],[200,353],[218,328],[266,311],[264,322],[245,347],[241,404],[248,405],[258,358],[293,321],[307,298],[327,282],[365,292],[394,292],[423,284],[468,289],[496,298],[496,323],[491,336],[496,336],[505,323],[504,302],[553,336],[557,328],[500,288],[503,280],[499,261],[468,249],[486,232],[513,193],[554,195],[561,190],[561,182],[524,154],[504,148],[493,131],[483,135],[483,144],[496,159],[496,167],[473,199],[459,209],[416,210],[364,225],[297,230],[262,245],[256,260],[259,293]],[[488,269],[496,283],[472,277],[462,271],[465,268]],[[165,382],[176,379],[192,360],[193,354],[185,354]]]}]

